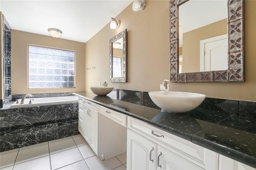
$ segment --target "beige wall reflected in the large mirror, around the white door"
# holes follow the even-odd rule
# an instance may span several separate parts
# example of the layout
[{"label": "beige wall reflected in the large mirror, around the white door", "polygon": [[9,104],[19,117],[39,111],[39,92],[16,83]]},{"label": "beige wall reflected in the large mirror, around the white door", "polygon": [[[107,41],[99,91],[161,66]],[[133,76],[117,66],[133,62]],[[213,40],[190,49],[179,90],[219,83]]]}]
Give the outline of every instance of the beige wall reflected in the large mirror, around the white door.
[{"label": "beige wall reflected in the large mirror, around the white door", "polygon": [[200,40],[224,34],[227,34],[227,19],[185,32],[182,46],[182,73],[200,71]]}]

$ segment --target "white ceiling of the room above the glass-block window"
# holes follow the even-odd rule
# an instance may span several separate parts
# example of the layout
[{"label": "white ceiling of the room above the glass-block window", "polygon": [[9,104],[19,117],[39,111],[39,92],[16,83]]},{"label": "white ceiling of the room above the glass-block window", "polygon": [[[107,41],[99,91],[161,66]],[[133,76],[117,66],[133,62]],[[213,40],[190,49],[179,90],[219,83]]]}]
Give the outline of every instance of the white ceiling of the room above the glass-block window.
[{"label": "white ceiling of the room above the glass-block window", "polygon": [[[87,42],[132,0],[0,0],[0,11],[14,30]],[[132,10],[132,8],[131,8]]]}]

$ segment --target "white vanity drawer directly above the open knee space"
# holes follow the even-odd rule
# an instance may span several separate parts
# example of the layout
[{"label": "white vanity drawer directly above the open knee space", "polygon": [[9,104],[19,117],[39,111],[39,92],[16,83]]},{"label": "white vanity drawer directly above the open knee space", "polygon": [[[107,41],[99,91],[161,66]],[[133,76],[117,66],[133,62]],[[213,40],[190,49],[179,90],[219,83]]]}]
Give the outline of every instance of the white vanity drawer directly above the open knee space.
[{"label": "white vanity drawer directly above the open knee space", "polygon": [[127,125],[127,116],[122,113],[113,111],[103,106],[100,106],[100,113],[112,119],[113,121],[119,123],[120,125],[123,125],[124,127],[126,127]]}]

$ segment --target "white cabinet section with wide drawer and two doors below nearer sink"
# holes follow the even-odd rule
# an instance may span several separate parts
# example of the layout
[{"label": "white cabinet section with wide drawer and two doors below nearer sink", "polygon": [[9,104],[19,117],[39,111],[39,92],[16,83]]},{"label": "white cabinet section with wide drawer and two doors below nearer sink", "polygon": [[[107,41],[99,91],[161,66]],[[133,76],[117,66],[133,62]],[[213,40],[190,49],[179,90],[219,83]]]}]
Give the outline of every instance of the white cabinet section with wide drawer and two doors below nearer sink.
[{"label": "white cabinet section with wide drawer and two doors below nearer sink", "polygon": [[218,170],[218,154],[128,118],[127,169]]}]

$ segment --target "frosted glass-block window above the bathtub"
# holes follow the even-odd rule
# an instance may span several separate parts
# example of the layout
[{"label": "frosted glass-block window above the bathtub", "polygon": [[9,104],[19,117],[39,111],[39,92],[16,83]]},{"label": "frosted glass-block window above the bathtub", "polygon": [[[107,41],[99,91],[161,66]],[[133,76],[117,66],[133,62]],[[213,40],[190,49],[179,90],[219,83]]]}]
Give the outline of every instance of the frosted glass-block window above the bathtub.
[{"label": "frosted glass-block window above the bathtub", "polygon": [[74,86],[75,51],[28,45],[28,88]]}]

